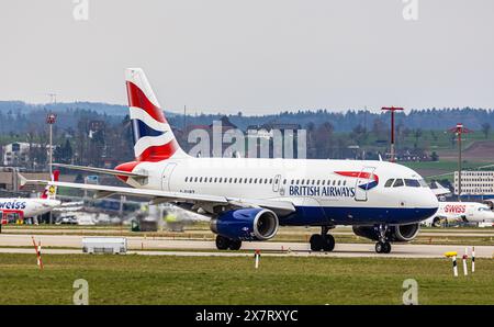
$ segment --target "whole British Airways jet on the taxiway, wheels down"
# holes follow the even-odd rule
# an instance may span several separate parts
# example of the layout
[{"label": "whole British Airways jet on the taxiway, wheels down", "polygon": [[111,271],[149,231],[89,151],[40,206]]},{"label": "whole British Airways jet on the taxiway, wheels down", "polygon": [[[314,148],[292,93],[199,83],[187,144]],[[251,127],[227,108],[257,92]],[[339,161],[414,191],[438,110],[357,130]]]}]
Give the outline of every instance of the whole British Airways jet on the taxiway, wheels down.
[{"label": "whole British Airways jet on the taxiway, wheels down", "polygon": [[419,223],[438,208],[425,180],[404,166],[370,160],[191,157],[179,146],[141,68],[125,70],[135,160],[115,169],[54,166],[115,176],[132,188],[25,181],[124,194],[151,204],[172,203],[207,216],[216,248],[238,250],[243,241],[268,240],[279,226],[321,226],[312,251],[332,251],[337,225],[389,253],[392,241],[409,241]]}]

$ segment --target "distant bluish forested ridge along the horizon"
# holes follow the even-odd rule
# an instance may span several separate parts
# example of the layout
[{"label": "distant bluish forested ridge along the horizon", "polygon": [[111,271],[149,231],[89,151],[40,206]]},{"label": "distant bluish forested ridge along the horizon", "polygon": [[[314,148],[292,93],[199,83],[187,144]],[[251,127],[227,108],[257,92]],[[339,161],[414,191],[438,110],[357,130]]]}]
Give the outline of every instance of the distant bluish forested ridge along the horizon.
[{"label": "distant bluish forested ridge along the horizon", "polygon": [[[55,111],[59,120],[60,128],[76,127],[81,117],[90,120],[104,120],[108,123],[122,122],[127,114],[127,108],[117,104],[71,102],[56,104],[29,104],[21,101],[0,101],[0,133],[27,132],[30,128],[42,128],[40,122],[44,122],[46,112]],[[218,111],[214,114],[188,115],[187,124],[209,125],[213,120],[220,120],[224,114]],[[168,113],[168,120],[177,127],[183,126],[183,115]],[[329,122],[336,132],[350,132],[358,125],[367,129],[386,128],[390,114],[370,111],[332,112],[330,110],[301,110],[297,112],[281,112],[278,114],[246,116],[239,111],[237,114],[228,114],[229,121],[239,128],[245,129],[249,125],[263,123],[295,123],[306,127],[310,124],[319,125]],[[408,113],[396,114],[396,125],[414,129],[445,131],[463,123],[471,129],[481,129],[482,125],[494,126],[494,111],[492,109],[425,109],[412,110]]]}]

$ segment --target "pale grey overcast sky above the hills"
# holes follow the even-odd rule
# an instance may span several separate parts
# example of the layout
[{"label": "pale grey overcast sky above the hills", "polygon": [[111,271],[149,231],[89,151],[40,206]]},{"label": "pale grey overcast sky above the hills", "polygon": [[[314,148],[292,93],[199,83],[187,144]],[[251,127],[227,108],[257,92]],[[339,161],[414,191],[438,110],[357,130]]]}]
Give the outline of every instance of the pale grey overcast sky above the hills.
[{"label": "pale grey overcast sky above the hills", "polygon": [[[80,1],[80,0],[79,0]],[[412,0],[411,0],[412,1]],[[0,100],[126,103],[142,67],[164,109],[262,114],[494,108],[494,1],[0,2]]]}]

